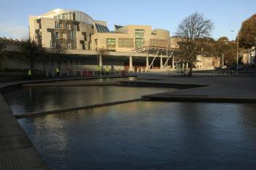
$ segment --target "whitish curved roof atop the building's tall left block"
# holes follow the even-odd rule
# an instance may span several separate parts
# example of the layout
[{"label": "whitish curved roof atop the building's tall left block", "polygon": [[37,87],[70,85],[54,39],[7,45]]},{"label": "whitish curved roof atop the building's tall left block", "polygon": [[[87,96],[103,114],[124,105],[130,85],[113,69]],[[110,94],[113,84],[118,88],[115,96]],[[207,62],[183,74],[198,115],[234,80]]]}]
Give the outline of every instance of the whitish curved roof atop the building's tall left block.
[{"label": "whitish curved roof atop the building's tall left block", "polygon": [[58,18],[62,20],[73,20],[74,18],[71,17],[75,13],[75,20],[82,23],[89,23],[94,25],[94,20],[91,18],[90,15],[86,14],[85,12],[80,12],[78,10],[67,10],[67,9],[53,9],[50,12],[46,12],[45,14],[40,15],[41,18]]}]

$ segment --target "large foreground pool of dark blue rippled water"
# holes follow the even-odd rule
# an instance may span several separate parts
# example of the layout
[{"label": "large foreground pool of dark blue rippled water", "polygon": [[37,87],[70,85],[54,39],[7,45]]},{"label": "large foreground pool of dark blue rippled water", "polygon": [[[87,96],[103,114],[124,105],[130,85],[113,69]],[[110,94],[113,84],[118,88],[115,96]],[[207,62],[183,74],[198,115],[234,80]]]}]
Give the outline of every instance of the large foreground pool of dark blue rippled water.
[{"label": "large foreground pool of dark blue rippled water", "polygon": [[256,169],[255,104],[140,101],[19,122],[50,169]]}]

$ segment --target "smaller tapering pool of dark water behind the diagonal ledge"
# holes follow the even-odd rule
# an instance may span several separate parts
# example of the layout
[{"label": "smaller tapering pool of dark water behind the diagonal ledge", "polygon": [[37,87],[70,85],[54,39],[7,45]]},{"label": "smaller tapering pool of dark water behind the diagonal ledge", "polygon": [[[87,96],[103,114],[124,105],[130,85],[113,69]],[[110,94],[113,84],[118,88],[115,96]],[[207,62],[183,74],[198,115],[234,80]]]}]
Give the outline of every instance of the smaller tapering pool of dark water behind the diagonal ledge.
[{"label": "smaller tapering pool of dark water behind the diagonal ledge", "polygon": [[[103,79],[102,81],[111,80]],[[3,95],[7,104],[12,109],[13,114],[19,115],[30,112],[44,112],[69,107],[82,107],[105,102],[129,100],[140,98],[146,94],[173,90],[175,89],[121,86],[23,87],[4,90]]]}]

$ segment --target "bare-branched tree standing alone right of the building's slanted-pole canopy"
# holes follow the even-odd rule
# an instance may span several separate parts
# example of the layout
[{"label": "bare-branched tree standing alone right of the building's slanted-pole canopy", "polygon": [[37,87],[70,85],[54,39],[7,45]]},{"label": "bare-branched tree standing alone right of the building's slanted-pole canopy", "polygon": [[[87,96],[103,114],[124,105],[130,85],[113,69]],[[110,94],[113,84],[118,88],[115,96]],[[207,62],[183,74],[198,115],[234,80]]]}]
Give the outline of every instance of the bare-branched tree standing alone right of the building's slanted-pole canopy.
[{"label": "bare-branched tree standing alone right of the building's slanted-pole canopy", "polygon": [[185,40],[181,45],[181,53],[189,63],[189,76],[192,76],[197,51],[201,50],[204,39],[211,35],[213,28],[214,24],[211,20],[205,19],[202,14],[197,12],[189,15],[178,25],[176,35]]}]

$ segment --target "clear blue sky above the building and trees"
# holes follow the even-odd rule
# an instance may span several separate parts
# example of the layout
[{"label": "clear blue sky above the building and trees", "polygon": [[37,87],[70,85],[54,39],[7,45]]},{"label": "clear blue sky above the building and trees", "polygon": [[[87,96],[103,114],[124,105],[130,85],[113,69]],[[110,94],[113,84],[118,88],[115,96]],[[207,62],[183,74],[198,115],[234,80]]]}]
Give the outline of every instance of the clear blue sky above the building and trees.
[{"label": "clear blue sky above the building and trees", "polygon": [[[149,25],[174,36],[181,21],[199,12],[214,23],[211,36],[236,38],[241,23],[256,13],[255,0],[0,0],[0,36],[29,36],[29,15],[52,9],[76,9],[113,25]],[[233,31],[232,31],[233,30]]]}]

